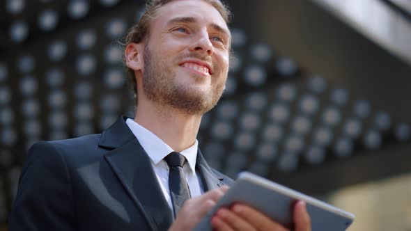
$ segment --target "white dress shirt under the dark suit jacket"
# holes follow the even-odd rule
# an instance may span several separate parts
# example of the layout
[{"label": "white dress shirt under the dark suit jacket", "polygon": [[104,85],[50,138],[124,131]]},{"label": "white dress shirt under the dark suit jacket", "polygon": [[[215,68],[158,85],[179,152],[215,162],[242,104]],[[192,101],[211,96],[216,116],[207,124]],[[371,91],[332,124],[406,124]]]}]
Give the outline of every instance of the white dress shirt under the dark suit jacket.
[{"label": "white dress shirt under the dark suit jacket", "polygon": [[[164,143],[162,139],[158,138],[153,132],[150,132],[145,127],[139,125],[134,120],[127,118],[125,121],[130,128],[134,136],[141,144],[141,147],[147,152],[148,157],[151,159],[151,165],[153,166],[155,176],[157,177],[160,187],[164,194],[164,198],[169,203],[171,211],[173,211],[173,204],[171,203],[171,196],[169,190],[169,165],[164,161],[164,157],[174,152],[169,145]],[[196,174],[196,159],[198,151],[199,141],[195,141],[194,144],[180,152],[187,159],[188,164],[183,166],[183,170],[186,176],[189,192],[193,197],[200,196],[203,193],[203,188],[199,184],[200,178]]]}]

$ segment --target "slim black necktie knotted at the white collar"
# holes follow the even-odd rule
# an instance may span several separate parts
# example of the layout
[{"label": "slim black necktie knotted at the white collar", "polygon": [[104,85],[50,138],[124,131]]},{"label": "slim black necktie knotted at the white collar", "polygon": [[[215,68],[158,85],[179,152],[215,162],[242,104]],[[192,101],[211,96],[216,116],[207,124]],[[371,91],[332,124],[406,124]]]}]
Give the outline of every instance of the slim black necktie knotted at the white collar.
[{"label": "slim black necktie knotted at the white collar", "polygon": [[187,181],[183,171],[185,157],[178,152],[171,152],[164,160],[169,165],[169,188],[173,203],[174,217],[180,212],[185,200],[190,198]]}]

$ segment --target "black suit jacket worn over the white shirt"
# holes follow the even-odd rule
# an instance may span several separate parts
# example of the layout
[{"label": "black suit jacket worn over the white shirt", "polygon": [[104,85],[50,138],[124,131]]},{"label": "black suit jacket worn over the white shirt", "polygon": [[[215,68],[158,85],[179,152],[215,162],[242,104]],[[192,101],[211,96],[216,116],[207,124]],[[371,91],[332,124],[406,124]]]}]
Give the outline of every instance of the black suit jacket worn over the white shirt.
[{"label": "black suit jacket worn over the white shirt", "polygon": [[[125,119],[102,134],[33,145],[9,230],[167,230],[171,209]],[[210,168],[200,150],[196,170],[205,190],[232,182]]]}]

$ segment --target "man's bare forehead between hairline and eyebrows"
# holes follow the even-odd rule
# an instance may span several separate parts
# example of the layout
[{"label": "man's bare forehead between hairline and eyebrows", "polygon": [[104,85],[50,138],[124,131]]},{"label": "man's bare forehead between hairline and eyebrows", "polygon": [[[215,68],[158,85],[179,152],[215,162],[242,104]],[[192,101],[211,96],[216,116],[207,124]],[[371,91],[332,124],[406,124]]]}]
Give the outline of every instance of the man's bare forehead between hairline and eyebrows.
[{"label": "man's bare forehead between hairline and eyebrows", "polygon": [[217,24],[228,31],[228,26],[218,10],[203,0],[176,0],[166,3],[158,10],[153,26],[165,26],[177,17],[193,17],[197,22]]}]

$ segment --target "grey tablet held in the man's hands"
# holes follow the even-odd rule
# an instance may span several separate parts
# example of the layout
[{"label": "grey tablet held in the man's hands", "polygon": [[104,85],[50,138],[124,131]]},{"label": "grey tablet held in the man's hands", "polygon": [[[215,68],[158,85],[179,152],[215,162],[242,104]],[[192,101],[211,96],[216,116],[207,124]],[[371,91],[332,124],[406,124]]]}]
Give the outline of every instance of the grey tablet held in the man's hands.
[{"label": "grey tablet held in the man's hands", "polygon": [[355,216],[349,212],[258,175],[242,172],[238,175],[233,186],[194,230],[212,230],[210,222],[212,215],[217,212],[219,207],[229,207],[235,202],[250,205],[286,228],[292,228],[293,207],[297,200],[304,200],[307,203],[313,231],[344,231],[354,221]]}]

